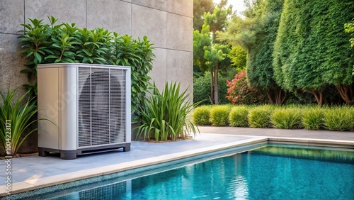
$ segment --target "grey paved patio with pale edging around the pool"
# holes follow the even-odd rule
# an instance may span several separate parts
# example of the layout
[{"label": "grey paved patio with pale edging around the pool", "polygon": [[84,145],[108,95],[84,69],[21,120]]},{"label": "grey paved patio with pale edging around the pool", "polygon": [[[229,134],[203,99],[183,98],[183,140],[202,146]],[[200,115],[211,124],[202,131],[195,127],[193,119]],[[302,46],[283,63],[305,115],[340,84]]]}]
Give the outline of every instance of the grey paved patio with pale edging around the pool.
[{"label": "grey paved patio with pale edging around the pool", "polygon": [[[199,129],[200,134],[191,140],[173,143],[132,141],[130,152],[118,150],[82,155],[76,160],[62,160],[59,155],[11,159],[11,194],[267,140],[338,144],[354,149],[354,132],[212,126],[200,126]],[[4,169],[0,172],[0,196],[6,195],[5,161],[0,162],[0,169]]]}]

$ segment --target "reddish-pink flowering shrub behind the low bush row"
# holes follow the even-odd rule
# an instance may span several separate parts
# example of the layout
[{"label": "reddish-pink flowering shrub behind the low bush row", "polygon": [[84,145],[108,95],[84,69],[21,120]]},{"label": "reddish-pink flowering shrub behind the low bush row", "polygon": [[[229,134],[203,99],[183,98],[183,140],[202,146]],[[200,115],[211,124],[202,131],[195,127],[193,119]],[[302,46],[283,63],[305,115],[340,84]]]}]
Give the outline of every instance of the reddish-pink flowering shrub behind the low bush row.
[{"label": "reddish-pink flowering shrub behind the low bush row", "polygon": [[226,84],[226,98],[232,104],[258,104],[264,100],[263,94],[251,89],[251,87],[247,85],[245,71],[241,71],[239,74],[236,74],[231,82],[227,80]]}]

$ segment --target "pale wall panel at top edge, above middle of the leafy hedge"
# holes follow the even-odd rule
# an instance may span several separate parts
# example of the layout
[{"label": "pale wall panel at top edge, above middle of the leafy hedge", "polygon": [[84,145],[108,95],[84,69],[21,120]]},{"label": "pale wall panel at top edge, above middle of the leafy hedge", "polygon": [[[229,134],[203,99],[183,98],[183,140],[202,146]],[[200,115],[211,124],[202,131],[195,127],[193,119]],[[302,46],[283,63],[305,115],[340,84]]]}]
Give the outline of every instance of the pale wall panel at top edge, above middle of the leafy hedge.
[{"label": "pale wall panel at top edge, above middle of the leafy hedge", "polygon": [[89,3],[88,29],[105,28],[120,35],[132,35],[130,3],[116,0],[91,0]]}]

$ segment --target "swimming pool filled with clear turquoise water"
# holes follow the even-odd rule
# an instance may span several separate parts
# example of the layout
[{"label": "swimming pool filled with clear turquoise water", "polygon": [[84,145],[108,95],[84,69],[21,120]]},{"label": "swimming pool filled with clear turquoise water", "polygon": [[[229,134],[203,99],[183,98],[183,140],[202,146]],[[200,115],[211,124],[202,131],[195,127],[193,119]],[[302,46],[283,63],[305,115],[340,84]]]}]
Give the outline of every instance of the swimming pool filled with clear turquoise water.
[{"label": "swimming pool filled with clear turquoise water", "polygon": [[183,163],[85,179],[11,198],[354,199],[353,150],[280,144],[248,149],[253,150],[235,154],[230,149]]}]

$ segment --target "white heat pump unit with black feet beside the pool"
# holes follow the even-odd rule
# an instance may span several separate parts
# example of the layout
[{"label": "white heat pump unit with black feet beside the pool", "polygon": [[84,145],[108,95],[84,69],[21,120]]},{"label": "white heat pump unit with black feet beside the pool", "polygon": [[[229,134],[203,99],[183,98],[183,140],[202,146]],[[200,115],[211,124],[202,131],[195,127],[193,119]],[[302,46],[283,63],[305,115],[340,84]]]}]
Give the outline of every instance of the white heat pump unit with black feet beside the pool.
[{"label": "white heat pump unit with black feet beside the pool", "polygon": [[38,65],[38,152],[130,151],[130,67]]}]

